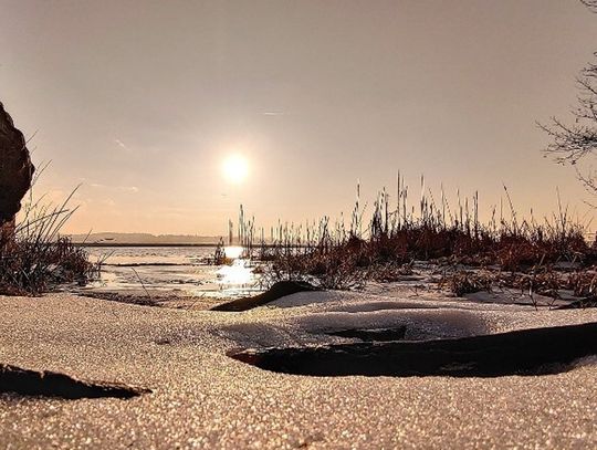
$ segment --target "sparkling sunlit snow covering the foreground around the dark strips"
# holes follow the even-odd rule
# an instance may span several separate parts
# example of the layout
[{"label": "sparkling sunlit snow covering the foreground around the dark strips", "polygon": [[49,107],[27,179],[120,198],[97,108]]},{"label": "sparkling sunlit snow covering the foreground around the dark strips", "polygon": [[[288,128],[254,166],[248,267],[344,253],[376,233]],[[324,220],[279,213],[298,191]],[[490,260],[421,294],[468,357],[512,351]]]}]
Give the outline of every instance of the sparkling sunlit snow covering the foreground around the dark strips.
[{"label": "sparkling sunlit snow covering the foreground around the dark strips", "polygon": [[0,447],[597,446],[595,358],[557,375],[483,379],[307,377],[226,356],[357,342],[329,334],[356,326],[406,326],[407,339],[458,338],[596,322],[595,310],[326,292],[272,305],[279,307],[227,313],[69,295],[0,297],[0,363],[151,389],[130,399],[0,394]]}]

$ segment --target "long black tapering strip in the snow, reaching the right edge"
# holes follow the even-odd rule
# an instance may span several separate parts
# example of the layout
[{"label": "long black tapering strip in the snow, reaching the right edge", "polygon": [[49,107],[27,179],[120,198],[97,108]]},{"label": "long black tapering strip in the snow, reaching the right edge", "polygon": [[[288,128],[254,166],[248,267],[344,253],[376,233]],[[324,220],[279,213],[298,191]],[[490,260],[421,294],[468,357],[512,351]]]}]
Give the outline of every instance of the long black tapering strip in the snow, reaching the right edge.
[{"label": "long black tapering strip in the snow, reaching the right edge", "polygon": [[339,344],[230,355],[262,369],[311,376],[500,377],[570,370],[597,354],[597,323],[422,342]]}]

